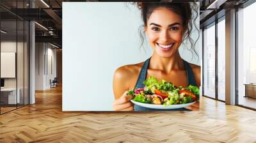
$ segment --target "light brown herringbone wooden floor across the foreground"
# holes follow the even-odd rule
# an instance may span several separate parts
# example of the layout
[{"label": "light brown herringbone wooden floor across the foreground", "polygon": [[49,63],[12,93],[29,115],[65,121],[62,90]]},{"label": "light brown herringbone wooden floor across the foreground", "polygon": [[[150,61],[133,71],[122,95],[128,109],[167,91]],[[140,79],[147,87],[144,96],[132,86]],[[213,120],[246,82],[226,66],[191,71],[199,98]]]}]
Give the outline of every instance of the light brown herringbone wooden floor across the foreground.
[{"label": "light brown herringbone wooden floor across the foreground", "polygon": [[0,116],[0,142],[256,142],[256,112],[202,97],[198,111],[62,112],[61,88]]}]

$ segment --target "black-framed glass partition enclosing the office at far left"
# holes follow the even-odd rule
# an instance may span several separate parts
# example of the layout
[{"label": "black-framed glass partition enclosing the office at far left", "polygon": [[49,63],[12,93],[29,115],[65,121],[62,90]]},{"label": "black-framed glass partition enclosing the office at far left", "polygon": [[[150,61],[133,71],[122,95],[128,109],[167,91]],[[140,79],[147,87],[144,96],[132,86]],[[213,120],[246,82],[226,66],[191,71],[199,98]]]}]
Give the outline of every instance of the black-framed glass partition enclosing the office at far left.
[{"label": "black-framed glass partition enclosing the office at far left", "polygon": [[[11,8],[28,8],[28,1],[12,1]],[[3,114],[29,104],[29,22],[0,8],[0,29]]]}]

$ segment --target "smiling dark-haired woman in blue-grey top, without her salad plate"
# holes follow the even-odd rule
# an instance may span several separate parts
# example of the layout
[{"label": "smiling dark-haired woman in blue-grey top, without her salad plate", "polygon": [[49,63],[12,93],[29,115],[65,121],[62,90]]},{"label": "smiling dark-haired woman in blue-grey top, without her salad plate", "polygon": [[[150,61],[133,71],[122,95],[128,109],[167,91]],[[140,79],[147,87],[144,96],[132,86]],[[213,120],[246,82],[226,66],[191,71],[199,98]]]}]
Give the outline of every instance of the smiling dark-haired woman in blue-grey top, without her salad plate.
[{"label": "smiling dark-haired woman in blue-grey top, without her salad plate", "polygon": [[115,71],[113,109],[156,110],[133,105],[130,101],[133,96],[127,96],[127,91],[143,88],[143,81],[150,76],[172,82],[176,87],[200,86],[200,66],[188,63],[179,54],[180,45],[185,40],[191,43],[189,50],[195,50],[195,43],[191,38],[192,13],[193,10],[198,10],[198,6],[195,3],[134,4],[141,10],[144,23],[141,45],[145,33],[154,52],[145,62],[125,65]]}]

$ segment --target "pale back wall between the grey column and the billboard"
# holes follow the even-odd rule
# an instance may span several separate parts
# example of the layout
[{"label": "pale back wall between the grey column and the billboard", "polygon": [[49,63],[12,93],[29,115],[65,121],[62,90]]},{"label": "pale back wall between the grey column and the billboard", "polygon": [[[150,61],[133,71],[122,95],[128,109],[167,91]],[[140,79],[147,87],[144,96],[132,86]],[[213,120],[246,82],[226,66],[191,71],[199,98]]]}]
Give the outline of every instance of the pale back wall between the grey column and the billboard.
[{"label": "pale back wall between the grey column and the billboard", "polygon": [[[36,43],[35,47],[35,89],[49,89],[50,79],[56,77],[56,49],[49,43]],[[52,67],[52,72],[49,67]]]}]

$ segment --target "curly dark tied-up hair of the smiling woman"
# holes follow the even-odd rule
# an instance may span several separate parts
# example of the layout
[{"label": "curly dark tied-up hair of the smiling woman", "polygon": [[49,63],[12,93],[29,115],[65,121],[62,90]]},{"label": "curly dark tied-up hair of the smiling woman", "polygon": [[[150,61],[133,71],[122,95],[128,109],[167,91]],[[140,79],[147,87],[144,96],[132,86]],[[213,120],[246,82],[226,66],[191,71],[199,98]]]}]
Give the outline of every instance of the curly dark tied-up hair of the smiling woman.
[{"label": "curly dark tied-up hair of the smiling woman", "polygon": [[[198,17],[198,4],[195,2],[193,3],[170,3],[170,2],[134,2],[132,4],[136,4],[138,8],[141,10],[141,18],[143,20],[143,26],[140,27],[139,33],[141,38],[141,44],[140,47],[143,47],[144,39],[145,39],[145,31],[143,31],[143,27],[147,26],[147,20],[149,19],[150,15],[156,8],[163,7],[168,8],[168,10],[172,10],[173,12],[180,15],[180,17],[183,20],[182,26],[185,29],[182,42],[188,40],[191,47],[188,48],[186,44],[184,46],[193,54],[193,51],[195,52],[196,56],[198,56],[198,53],[195,51],[195,44],[199,39],[199,29],[196,27],[196,18]],[[196,14],[193,15],[193,12]],[[196,28],[196,31],[198,32],[198,38],[196,38],[196,41],[191,38],[191,33],[193,31],[193,24]]]}]

